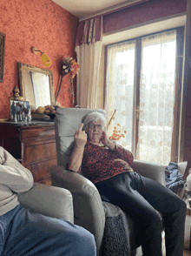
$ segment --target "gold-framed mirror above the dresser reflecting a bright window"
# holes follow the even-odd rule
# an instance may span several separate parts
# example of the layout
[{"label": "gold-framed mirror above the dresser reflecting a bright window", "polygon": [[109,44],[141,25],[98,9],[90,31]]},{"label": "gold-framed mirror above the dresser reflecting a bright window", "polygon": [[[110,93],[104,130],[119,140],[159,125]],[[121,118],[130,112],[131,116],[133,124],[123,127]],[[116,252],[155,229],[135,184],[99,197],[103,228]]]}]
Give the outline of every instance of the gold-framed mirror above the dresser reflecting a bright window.
[{"label": "gold-framed mirror above the dresser reflecting a bright window", "polygon": [[30,102],[31,108],[55,104],[52,71],[18,63],[18,74],[20,95]]}]

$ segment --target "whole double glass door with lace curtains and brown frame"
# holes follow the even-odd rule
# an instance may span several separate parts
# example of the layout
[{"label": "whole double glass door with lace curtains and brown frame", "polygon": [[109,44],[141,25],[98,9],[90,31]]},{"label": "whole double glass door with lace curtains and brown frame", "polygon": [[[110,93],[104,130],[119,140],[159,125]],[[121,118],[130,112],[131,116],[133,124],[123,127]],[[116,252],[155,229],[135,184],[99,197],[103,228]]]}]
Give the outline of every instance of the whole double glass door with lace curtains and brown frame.
[{"label": "whole double glass door with lace curtains and brown frame", "polygon": [[[177,87],[177,30],[108,46],[108,112],[113,127],[127,131],[119,143],[135,158],[168,165],[174,131]],[[179,77],[180,78],[180,77]],[[180,111],[176,109],[176,111]]]}]

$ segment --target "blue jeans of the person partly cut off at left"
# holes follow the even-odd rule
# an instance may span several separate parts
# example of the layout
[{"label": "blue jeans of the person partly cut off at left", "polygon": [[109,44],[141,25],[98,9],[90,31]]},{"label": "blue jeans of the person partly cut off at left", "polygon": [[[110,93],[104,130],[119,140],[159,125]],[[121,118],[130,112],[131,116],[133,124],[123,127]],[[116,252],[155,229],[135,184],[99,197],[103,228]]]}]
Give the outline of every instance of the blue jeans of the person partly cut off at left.
[{"label": "blue jeans of the person partly cut off at left", "polygon": [[1,256],[95,256],[94,236],[63,219],[16,206],[0,216]]}]

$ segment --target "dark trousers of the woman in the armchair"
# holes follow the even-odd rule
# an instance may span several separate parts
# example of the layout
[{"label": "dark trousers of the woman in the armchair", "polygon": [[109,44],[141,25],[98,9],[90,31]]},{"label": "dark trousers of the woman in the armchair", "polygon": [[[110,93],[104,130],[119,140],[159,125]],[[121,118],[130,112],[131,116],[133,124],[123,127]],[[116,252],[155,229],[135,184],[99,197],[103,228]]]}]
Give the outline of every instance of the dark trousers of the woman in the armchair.
[{"label": "dark trousers of the woman in the armchair", "polygon": [[162,255],[162,226],[165,228],[166,255],[183,255],[187,207],[174,192],[137,172],[123,172],[95,186],[140,224],[144,256]]}]

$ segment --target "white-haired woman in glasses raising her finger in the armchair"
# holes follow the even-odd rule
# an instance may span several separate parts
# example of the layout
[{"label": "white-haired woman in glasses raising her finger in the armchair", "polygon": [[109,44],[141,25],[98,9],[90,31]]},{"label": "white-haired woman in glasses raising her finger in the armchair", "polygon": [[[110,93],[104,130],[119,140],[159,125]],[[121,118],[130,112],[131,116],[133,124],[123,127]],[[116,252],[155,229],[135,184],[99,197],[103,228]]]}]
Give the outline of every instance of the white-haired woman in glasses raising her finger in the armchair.
[{"label": "white-haired woman in glasses raising her finger in the armchair", "polygon": [[140,224],[144,256],[162,255],[162,224],[166,255],[182,256],[186,204],[165,186],[134,172],[132,153],[109,140],[105,128],[106,118],[101,113],[92,112],[85,118],[76,131],[67,168],[82,171],[101,194]]}]

